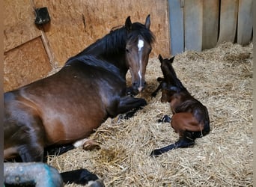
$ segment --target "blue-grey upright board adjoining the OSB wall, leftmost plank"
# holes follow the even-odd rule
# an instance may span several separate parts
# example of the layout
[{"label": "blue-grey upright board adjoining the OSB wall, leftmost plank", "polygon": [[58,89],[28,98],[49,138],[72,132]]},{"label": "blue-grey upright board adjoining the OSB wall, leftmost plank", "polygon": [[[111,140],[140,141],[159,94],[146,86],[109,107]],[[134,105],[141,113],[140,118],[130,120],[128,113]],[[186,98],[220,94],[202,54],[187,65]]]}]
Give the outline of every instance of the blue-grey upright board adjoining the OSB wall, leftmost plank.
[{"label": "blue-grey upright board adjoining the OSB wall, leftmost plank", "polygon": [[184,50],[183,1],[168,0],[169,25],[171,40],[171,55],[177,55]]}]

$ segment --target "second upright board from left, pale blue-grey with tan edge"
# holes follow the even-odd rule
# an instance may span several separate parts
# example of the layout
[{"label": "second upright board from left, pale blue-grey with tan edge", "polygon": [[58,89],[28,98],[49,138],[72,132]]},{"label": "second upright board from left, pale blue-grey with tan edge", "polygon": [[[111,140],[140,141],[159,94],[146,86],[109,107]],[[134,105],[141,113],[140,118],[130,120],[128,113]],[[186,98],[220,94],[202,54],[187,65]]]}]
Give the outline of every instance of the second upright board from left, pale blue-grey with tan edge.
[{"label": "second upright board from left, pale blue-grey with tan edge", "polygon": [[184,1],[185,49],[201,51],[203,35],[203,0]]}]

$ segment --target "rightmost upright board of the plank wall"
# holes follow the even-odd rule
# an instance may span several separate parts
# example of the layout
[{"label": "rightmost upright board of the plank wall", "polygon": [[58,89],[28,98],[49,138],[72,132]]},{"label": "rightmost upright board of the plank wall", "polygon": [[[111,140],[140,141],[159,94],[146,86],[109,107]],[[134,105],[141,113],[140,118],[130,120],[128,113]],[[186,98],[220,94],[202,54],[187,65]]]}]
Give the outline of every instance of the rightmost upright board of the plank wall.
[{"label": "rightmost upright board of the plank wall", "polygon": [[237,43],[246,45],[252,37],[252,0],[239,0]]}]

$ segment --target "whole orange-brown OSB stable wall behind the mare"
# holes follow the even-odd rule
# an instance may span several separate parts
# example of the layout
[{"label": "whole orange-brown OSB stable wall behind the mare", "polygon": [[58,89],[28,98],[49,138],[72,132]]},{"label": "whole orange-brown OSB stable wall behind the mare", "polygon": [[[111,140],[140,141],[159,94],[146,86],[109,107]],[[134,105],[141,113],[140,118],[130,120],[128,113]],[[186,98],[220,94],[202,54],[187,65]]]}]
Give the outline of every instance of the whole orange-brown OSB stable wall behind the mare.
[{"label": "whole orange-brown OSB stable wall behind the mare", "polygon": [[[35,7],[49,10],[51,22],[43,28],[34,25]],[[150,14],[156,35],[150,57],[170,55],[166,0],[6,0],[4,10],[4,91],[47,76],[111,28],[124,25],[127,16],[144,22]]]}]

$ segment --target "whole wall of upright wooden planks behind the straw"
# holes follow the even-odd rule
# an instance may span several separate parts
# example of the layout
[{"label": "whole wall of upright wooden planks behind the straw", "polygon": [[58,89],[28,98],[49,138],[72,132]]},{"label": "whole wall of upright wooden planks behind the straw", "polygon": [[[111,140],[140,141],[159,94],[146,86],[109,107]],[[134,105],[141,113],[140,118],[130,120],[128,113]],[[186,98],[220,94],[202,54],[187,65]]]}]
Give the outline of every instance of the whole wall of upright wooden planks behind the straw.
[{"label": "whole wall of upright wooden planks behind the straw", "polygon": [[168,0],[171,55],[252,41],[252,0]]}]

